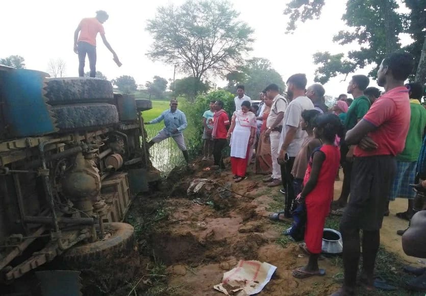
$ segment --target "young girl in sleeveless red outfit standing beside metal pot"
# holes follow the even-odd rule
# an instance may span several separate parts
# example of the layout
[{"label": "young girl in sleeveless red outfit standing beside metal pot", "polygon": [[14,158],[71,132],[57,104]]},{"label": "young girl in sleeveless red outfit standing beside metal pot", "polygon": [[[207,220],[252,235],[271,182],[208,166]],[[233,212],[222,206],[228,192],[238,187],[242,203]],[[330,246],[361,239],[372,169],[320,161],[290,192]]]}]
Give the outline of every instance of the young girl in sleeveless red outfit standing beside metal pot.
[{"label": "young girl in sleeveless red outfit standing beside metal pot", "polygon": [[339,169],[340,151],[334,144],[336,135],[343,136],[339,117],[335,114],[316,117],[314,135],[322,142],[322,146],[313,152],[303,181],[305,187],[297,196],[299,203],[306,204],[305,243],[310,256],[308,265],[293,270],[292,275],[295,278],[325,275],[325,270],[318,267],[318,258],[321,254],[325,217],[330,212],[334,179]]}]

